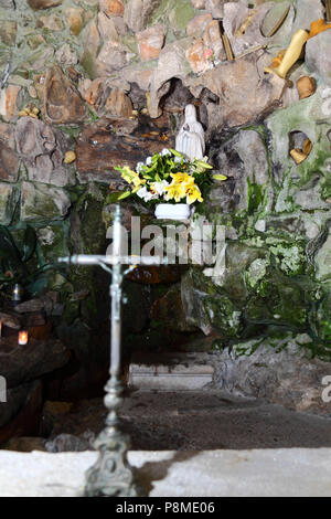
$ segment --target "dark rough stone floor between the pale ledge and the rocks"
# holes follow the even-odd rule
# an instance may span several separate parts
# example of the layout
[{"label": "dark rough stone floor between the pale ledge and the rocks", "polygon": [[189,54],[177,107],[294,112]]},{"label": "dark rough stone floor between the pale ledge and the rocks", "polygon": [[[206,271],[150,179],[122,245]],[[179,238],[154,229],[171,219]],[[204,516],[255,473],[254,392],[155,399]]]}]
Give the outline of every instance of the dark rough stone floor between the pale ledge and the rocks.
[{"label": "dark rough stone floor between the pale ledge and the rocks", "polygon": [[[213,363],[216,356],[210,353],[206,357]],[[43,423],[47,424],[47,434],[52,437],[71,434],[89,438],[105,425],[107,412],[102,398],[79,401],[75,405],[54,402],[52,406],[56,409],[51,416],[49,412],[43,413]],[[275,448],[275,444],[281,448],[321,448],[331,445],[330,417],[290,411],[263,399],[234,396],[221,390],[162,391],[161,394],[154,390],[128,391],[120,417],[135,451],[261,449]]]}]

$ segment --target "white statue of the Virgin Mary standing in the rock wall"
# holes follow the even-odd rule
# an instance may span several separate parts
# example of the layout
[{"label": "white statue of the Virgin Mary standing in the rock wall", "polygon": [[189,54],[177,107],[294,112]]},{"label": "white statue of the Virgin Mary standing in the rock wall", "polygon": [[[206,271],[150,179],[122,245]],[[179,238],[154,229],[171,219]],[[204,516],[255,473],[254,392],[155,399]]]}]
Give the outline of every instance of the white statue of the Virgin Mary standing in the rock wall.
[{"label": "white statue of the Virgin Mary standing in the rock wall", "polygon": [[175,149],[185,155],[190,160],[204,157],[205,142],[204,129],[196,119],[196,108],[188,105],[185,120],[175,139]]}]

